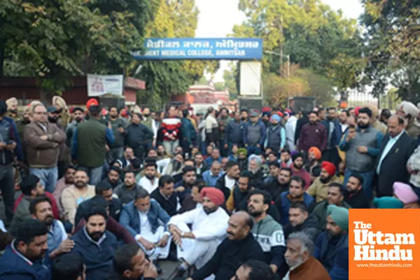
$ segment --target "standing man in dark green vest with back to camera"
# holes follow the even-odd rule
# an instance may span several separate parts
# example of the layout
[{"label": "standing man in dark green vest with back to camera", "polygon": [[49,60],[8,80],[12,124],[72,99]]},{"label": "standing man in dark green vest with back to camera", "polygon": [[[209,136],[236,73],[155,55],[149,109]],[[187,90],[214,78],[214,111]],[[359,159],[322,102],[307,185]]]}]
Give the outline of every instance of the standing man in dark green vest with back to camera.
[{"label": "standing man in dark green vest with back to camera", "polygon": [[106,145],[113,144],[115,137],[111,123],[108,127],[101,123],[99,106],[90,106],[89,115],[89,120],[79,123],[74,130],[71,158],[85,170],[90,178],[90,184],[96,185],[102,179]]}]

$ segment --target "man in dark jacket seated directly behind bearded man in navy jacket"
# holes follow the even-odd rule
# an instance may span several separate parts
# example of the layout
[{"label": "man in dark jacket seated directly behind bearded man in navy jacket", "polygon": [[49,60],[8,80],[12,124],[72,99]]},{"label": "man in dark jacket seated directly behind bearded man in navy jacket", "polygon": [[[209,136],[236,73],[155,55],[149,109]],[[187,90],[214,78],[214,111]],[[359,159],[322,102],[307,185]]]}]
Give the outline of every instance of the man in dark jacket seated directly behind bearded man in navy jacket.
[{"label": "man in dark jacket seated directly behind bearded man in navy jacket", "polygon": [[[113,197],[112,186],[106,181],[99,182],[97,186],[94,187],[94,193],[96,194],[95,197],[104,197],[106,202],[108,202],[109,218],[119,221],[121,210],[123,210],[123,204],[120,199]],[[76,216],[74,218],[74,226],[78,225],[80,220],[83,219],[87,212],[90,211],[90,207],[92,207],[90,200],[80,203],[77,207]]]}]

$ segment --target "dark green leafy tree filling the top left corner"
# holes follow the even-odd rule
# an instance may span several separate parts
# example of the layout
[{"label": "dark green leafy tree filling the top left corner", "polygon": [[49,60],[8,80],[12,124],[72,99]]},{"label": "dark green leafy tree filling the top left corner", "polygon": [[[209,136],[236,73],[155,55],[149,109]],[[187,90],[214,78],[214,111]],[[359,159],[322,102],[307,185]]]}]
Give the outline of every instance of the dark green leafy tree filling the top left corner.
[{"label": "dark green leafy tree filling the top left corner", "polygon": [[[144,24],[153,18],[154,3],[1,1],[0,77],[35,76],[41,99],[48,103],[48,95],[71,85],[71,76],[86,71],[124,73],[125,64],[132,61],[130,52],[143,48]],[[14,65],[17,72],[4,72],[4,64]]]}]

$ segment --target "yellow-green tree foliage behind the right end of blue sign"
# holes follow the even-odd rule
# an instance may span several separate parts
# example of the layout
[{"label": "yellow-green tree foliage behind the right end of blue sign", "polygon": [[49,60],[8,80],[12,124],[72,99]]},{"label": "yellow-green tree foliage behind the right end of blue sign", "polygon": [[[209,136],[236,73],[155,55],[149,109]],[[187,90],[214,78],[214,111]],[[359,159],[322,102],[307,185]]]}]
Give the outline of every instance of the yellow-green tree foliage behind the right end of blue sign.
[{"label": "yellow-green tree foliage behind the right end of blue sign", "polygon": [[[320,0],[240,0],[239,9],[247,20],[234,27],[234,36],[261,37],[265,50],[283,50],[283,59],[290,55],[293,64],[311,69],[311,77],[316,75],[321,78],[320,84],[328,87],[328,94],[316,96],[319,100],[330,99],[330,85],[340,92],[358,86],[365,64],[356,20],[344,18],[342,12]],[[341,63],[343,59],[345,64]],[[264,73],[279,73],[280,60],[278,55],[265,55]],[[267,79],[270,83],[276,80],[274,76]],[[299,90],[306,88],[303,84],[295,86],[299,84],[296,81],[286,84]],[[289,92],[297,94],[295,90]],[[314,90],[314,94],[322,92]]]}]

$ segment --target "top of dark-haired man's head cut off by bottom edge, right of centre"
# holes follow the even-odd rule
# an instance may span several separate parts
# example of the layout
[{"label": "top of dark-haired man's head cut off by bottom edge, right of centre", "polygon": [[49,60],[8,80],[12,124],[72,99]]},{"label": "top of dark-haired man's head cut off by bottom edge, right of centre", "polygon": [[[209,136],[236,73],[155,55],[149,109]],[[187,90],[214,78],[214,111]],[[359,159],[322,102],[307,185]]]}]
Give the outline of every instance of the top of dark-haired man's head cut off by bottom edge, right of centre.
[{"label": "top of dark-haired man's head cut off by bottom edge, right of centre", "polygon": [[271,267],[260,260],[247,260],[230,280],[275,280]]}]

